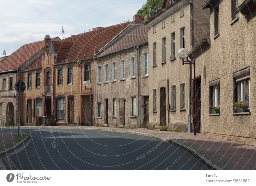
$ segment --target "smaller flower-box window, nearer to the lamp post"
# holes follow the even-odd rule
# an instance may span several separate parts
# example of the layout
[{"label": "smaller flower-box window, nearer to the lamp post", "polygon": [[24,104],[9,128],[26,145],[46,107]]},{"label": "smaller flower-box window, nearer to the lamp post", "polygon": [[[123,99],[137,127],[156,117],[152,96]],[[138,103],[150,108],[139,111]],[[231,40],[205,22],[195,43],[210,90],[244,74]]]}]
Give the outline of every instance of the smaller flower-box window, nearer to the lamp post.
[{"label": "smaller flower-box window, nearer to the lamp post", "polygon": [[220,105],[220,79],[211,81],[210,87],[210,105],[216,107]]}]

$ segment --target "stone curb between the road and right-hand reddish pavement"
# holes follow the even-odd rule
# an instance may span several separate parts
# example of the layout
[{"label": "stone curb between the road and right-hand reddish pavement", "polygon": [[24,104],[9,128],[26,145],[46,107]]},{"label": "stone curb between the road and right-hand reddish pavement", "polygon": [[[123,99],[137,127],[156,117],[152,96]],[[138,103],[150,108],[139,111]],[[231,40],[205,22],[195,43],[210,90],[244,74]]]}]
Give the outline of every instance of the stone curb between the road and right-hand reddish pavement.
[{"label": "stone curb between the road and right-hand reddish pavement", "polygon": [[211,160],[204,158],[201,154],[197,153],[196,150],[194,149],[190,149],[188,146],[183,145],[181,143],[176,142],[173,139],[165,139],[165,138],[161,138],[161,137],[157,137],[148,133],[143,133],[143,132],[134,132],[134,131],[114,131],[111,129],[101,129],[101,128],[78,128],[78,129],[84,129],[84,130],[104,130],[104,131],[112,131],[112,132],[123,132],[123,133],[130,133],[130,134],[137,134],[137,135],[143,135],[143,136],[151,136],[154,137],[158,140],[161,141],[166,141],[168,143],[173,143],[174,145],[188,151],[190,154],[192,154],[196,159],[198,159],[201,163],[203,163],[206,167],[210,168],[211,170],[222,170],[220,167],[218,167],[217,165],[215,165]]}]

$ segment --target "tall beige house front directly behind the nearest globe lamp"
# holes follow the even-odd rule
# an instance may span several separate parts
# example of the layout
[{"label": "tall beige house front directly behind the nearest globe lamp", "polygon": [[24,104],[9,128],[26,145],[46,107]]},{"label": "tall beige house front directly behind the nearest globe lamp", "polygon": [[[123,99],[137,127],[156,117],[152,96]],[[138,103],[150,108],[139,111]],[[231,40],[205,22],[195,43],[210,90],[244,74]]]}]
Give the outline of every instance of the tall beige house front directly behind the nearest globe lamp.
[{"label": "tall beige house front directly behind the nearest globe lamp", "polygon": [[[202,11],[198,8],[203,3],[194,1],[194,46],[209,35],[209,10]],[[182,66],[178,50],[186,48],[189,51],[191,47],[190,6],[186,0],[164,0],[163,8],[146,22],[149,35],[151,126],[169,126],[182,131],[188,128],[189,66]],[[197,89],[200,89],[200,78]],[[197,123],[197,131],[202,131],[201,123]]]}]

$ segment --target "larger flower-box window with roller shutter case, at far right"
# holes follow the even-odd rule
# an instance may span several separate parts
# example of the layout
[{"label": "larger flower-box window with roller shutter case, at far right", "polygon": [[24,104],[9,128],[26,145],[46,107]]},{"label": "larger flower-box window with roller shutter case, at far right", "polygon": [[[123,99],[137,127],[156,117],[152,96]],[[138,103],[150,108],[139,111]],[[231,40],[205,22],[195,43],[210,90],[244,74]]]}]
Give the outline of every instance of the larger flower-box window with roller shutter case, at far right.
[{"label": "larger flower-box window with roller shutter case, at far right", "polygon": [[234,102],[244,102],[250,111],[251,79],[250,68],[234,73]]}]

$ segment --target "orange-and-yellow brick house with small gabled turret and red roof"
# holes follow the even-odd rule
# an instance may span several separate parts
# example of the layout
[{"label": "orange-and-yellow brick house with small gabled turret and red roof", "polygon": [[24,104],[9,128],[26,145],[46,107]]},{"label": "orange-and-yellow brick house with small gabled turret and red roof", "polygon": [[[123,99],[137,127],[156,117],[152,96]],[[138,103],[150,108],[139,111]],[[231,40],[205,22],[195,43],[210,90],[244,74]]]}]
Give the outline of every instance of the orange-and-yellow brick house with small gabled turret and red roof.
[{"label": "orange-and-yellow brick house with small gabled turret and red roof", "polygon": [[[22,69],[27,85],[23,93],[22,108],[26,112],[22,123],[89,125],[93,116],[93,55],[129,24],[98,27],[54,42],[46,35],[43,53]],[[91,93],[85,90],[84,81],[87,88],[92,88]]]}]

